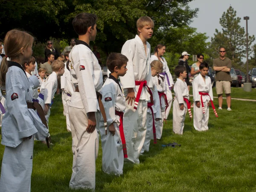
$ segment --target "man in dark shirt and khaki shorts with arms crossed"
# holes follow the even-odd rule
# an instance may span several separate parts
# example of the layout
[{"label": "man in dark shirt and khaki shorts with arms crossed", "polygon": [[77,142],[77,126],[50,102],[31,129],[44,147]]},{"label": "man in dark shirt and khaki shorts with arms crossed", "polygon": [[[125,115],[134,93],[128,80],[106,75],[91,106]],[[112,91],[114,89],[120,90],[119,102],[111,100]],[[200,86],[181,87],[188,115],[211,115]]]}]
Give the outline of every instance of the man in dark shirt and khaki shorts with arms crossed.
[{"label": "man in dark shirt and khaki shorts with arms crossed", "polygon": [[232,111],[231,106],[231,76],[230,76],[230,69],[231,69],[231,60],[227,58],[226,50],[224,47],[220,47],[219,49],[220,56],[213,60],[213,70],[216,71],[215,81],[216,81],[216,92],[218,94],[218,109],[222,109],[222,102],[223,102],[223,89],[225,91],[227,97],[227,111]]}]

